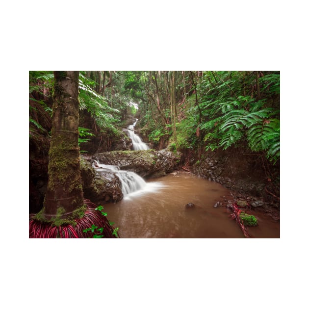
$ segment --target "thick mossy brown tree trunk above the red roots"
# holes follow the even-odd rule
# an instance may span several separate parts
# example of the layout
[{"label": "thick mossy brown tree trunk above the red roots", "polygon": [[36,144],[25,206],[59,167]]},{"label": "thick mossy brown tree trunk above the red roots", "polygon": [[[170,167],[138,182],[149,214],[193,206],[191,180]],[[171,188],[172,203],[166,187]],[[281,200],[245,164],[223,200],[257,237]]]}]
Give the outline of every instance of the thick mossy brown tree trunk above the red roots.
[{"label": "thick mossy brown tree trunk above the red roots", "polygon": [[78,147],[78,71],[54,72],[52,139],[43,217],[74,217],[83,206]]}]

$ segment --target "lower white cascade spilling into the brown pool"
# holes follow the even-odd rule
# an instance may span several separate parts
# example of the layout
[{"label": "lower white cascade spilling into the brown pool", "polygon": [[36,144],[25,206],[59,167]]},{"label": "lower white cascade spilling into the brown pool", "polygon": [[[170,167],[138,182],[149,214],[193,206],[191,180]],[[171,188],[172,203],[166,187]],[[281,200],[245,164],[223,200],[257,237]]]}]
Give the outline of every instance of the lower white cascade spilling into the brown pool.
[{"label": "lower white cascade spilling into the brown pool", "polygon": [[[117,165],[105,165],[100,164],[96,160],[94,161],[96,164],[93,164],[93,167],[96,171],[114,173],[118,176],[122,184],[124,200],[128,200],[133,196],[140,196],[145,193],[154,193],[163,187],[163,184],[159,181],[146,182],[134,172],[120,170]],[[97,166],[99,166],[99,168]]]}]

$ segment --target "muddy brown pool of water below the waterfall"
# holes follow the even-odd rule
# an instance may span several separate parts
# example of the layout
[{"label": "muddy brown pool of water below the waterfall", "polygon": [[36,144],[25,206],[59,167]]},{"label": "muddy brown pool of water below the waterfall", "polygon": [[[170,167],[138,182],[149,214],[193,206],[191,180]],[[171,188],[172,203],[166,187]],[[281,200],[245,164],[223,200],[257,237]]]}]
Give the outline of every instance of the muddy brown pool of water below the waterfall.
[{"label": "muddy brown pool of water below the waterfall", "polygon": [[[232,200],[222,185],[186,172],[147,182],[155,189],[104,205],[121,238],[245,238],[230,218],[231,210],[214,207],[217,201]],[[185,207],[188,203],[195,207]],[[280,223],[259,211],[246,212],[258,219],[258,226],[249,228],[253,237],[280,238]]]}]

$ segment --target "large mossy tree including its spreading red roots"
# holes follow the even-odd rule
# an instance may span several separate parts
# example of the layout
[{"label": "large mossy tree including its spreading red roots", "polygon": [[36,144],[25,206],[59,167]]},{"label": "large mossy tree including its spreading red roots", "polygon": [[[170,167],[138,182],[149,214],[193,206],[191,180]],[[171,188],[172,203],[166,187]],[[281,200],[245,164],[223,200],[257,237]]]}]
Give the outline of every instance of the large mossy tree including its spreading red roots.
[{"label": "large mossy tree including its spreading red roots", "polygon": [[[113,229],[96,206],[84,200],[78,147],[78,71],[54,72],[52,136],[48,184],[43,209],[29,221],[30,238],[86,238],[83,231],[101,226],[106,237]],[[90,234],[91,235],[91,234]]]}]

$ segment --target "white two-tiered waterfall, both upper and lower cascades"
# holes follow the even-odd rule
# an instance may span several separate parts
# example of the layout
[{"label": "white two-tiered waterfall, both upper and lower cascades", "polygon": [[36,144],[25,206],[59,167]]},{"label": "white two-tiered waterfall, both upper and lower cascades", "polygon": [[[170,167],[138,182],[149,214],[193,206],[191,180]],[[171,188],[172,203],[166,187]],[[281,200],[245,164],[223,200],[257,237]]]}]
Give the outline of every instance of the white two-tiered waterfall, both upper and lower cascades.
[{"label": "white two-tiered waterfall, both upper and lower cascades", "polygon": [[[134,127],[137,120],[138,119],[136,119],[133,125],[130,125],[127,129],[129,137],[133,143],[133,150],[148,150],[149,147],[134,133]],[[98,173],[104,172],[114,174],[120,179],[124,200],[129,199],[132,196],[156,192],[162,187],[160,182],[146,182],[134,172],[121,170],[117,165],[100,164],[98,161],[94,160],[93,167]]]}]

